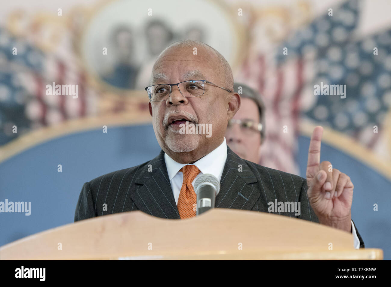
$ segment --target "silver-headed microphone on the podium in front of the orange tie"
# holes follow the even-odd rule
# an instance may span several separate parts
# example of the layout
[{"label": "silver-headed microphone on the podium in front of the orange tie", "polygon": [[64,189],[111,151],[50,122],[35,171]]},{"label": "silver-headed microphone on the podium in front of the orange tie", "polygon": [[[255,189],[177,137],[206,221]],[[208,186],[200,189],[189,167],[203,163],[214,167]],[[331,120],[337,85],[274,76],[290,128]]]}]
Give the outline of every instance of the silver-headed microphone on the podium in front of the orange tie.
[{"label": "silver-headed microphone on the podium in front of the orange tie", "polygon": [[215,207],[216,196],[220,191],[220,183],[216,176],[206,173],[194,183],[197,194],[197,215]]}]

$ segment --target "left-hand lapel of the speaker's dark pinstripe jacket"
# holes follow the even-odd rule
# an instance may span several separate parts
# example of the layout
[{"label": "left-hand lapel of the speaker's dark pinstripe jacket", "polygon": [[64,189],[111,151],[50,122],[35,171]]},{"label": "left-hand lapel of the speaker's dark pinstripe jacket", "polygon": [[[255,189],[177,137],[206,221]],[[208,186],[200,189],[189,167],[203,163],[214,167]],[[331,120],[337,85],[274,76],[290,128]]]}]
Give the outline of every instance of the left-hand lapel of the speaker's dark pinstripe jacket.
[{"label": "left-hand lapel of the speaker's dark pinstripe jacket", "polygon": [[180,218],[172,194],[163,150],[136,176],[136,191],[131,198],[139,210],[156,217]]}]

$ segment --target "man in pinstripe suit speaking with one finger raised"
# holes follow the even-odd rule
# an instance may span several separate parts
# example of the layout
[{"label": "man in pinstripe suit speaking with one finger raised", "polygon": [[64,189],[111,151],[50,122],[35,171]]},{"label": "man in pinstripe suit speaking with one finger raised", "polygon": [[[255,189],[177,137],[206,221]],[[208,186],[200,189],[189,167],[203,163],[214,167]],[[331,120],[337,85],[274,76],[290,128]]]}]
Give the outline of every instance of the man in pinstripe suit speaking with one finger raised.
[{"label": "man in pinstripe suit speaking with one finger raised", "polygon": [[216,208],[268,212],[270,202],[300,202],[300,215],[278,214],[353,232],[355,248],[364,247],[351,220],[349,176],[320,162],[322,127],[311,136],[307,179],[241,159],[228,148],[224,134],[240,96],[219,52],[198,41],[173,43],[159,55],[145,89],[162,151],[149,162],[86,182],[75,221],[133,210],[167,219],[194,217],[194,183],[208,173],[221,185]]}]

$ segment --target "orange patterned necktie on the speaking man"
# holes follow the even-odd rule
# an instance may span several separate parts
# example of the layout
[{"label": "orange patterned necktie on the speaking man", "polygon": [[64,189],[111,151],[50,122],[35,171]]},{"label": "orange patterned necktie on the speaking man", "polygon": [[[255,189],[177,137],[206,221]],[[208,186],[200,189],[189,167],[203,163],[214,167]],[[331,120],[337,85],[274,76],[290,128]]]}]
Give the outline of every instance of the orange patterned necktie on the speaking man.
[{"label": "orange patterned necktie on the speaking man", "polygon": [[200,173],[200,170],[194,165],[186,165],[181,170],[183,173],[183,184],[178,198],[178,211],[181,219],[194,217],[197,203],[197,194],[194,192],[192,182]]}]

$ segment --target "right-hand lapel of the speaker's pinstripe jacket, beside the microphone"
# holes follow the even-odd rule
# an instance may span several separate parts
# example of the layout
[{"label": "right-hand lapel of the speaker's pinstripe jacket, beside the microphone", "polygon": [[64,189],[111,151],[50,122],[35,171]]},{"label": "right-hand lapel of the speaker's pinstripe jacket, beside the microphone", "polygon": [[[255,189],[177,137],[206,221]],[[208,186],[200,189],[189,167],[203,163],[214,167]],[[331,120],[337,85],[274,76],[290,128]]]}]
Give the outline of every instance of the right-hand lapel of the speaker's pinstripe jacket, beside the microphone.
[{"label": "right-hand lapel of the speaker's pinstripe jacket, beside the microphone", "polygon": [[227,160],[220,180],[215,207],[251,210],[260,193],[247,163],[227,146]]}]

